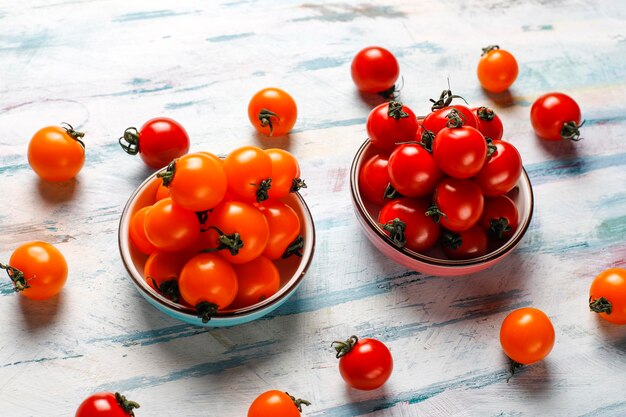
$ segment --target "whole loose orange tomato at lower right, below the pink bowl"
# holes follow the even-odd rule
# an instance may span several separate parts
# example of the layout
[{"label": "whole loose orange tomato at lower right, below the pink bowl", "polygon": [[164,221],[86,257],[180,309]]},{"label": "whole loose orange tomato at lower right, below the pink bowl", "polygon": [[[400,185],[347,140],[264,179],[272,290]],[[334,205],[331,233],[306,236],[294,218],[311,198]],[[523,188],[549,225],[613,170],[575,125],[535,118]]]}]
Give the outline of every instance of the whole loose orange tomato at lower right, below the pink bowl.
[{"label": "whole loose orange tomato at lower right, below the pink bowl", "polygon": [[500,344],[509,358],[528,365],[550,353],[554,346],[554,327],[543,311],[520,308],[502,322]]}]

